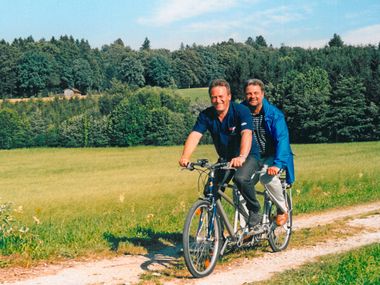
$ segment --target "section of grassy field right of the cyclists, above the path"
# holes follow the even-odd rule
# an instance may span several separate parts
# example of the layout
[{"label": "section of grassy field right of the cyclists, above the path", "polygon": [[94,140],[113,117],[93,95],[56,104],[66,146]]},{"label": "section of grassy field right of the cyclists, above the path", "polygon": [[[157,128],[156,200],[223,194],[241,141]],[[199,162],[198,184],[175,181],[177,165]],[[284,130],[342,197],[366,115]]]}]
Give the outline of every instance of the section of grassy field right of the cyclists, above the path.
[{"label": "section of grassy field right of the cyclists, above the path", "polygon": [[380,142],[297,145],[293,149],[296,213],[380,197]]}]

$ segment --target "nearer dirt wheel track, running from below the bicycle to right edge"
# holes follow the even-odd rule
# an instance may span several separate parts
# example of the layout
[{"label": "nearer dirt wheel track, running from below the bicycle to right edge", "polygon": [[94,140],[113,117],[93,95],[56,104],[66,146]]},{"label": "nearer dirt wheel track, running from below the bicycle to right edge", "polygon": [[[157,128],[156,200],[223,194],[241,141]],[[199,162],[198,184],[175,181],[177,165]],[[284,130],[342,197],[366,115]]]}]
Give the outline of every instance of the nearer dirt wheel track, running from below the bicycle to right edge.
[{"label": "nearer dirt wheel track, running from below the bicycle to right edge", "polygon": [[[243,284],[246,282],[262,281],[270,279],[277,272],[299,267],[313,261],[316,257],[348,251],[360,246],[380,242],[380,215],[374,215],[367,219],[355,219],[356,225],[367,227],[367,222],[376,226],[376,232],[364,231],[348,239],[339,239],[319,243],[315,246],[299,249],[289,249],[278,253],[265,253],[264,256],[252,260],[244,259],[239,264],[217,269],[212,275],[203,279],[175,280],[167,284]],[[373,227],[371,227],[373,229]],[[369,229],[369,228],[368,228]]]}]

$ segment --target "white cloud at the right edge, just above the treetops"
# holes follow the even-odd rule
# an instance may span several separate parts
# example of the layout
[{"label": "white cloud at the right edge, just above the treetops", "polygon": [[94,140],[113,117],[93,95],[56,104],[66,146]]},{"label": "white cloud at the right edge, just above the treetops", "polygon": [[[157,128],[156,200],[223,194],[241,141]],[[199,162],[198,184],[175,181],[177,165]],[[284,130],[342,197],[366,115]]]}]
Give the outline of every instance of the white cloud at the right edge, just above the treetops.
[{"label": "white cloud at the right edge, just above the treetops", "polygon": [[380,24],[349,31],[341,35],[345,44],[351,45],[377,45],[380,42]]}]

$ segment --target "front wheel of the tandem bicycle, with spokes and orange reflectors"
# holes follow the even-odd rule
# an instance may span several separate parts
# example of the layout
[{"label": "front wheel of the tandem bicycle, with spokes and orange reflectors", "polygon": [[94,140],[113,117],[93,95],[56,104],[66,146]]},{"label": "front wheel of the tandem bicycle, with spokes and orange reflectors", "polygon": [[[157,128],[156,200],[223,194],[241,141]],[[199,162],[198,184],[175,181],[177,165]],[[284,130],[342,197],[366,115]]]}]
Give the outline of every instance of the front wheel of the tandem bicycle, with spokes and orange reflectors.
[{"label": "front wheel of the tandem bicycle, with spokes and orange reflectors", "polygon": [[190,273],[197,278],[209,275],[215,268],[221,248],[218,215],[210,202],[199,200],[191,207],[183,230],[183,253]]}]

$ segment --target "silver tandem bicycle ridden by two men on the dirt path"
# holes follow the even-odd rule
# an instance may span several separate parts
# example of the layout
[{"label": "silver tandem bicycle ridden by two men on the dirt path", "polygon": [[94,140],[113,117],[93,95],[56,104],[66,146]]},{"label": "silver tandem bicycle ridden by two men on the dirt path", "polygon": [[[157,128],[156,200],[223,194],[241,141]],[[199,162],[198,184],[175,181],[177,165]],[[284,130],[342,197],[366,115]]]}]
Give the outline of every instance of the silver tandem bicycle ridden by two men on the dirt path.
[{"label": "silver tandem bicycle ridden by two men on the dirt path", "polygon": [[[275,252],[286,249],[292,233],[292,195],[291,185],[286,184],[283,175],[280,179],[288,208],[287,222],[277,226],[276,206],[264,185],[264,191],[256,192],[264,197],[261,223],[254,230],[249,230],[245,200],[236,185],[231,182],[215,187],[217,170],[234,171],[235,168],[226,162],[211,164],[207,159],[198,159],[185,169],[198,171],[199,181],[206,182],[202,197],[187,214],[183,230],[184,258],[192,276],[200,278],[209,275],[227,249],[253,247],[264,240],[269,241]],[[254,175],[265,171],[257,171]],[[227,189],[232,193],[228,194]]]}]

